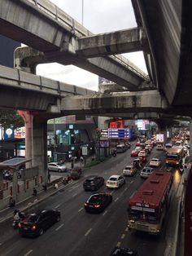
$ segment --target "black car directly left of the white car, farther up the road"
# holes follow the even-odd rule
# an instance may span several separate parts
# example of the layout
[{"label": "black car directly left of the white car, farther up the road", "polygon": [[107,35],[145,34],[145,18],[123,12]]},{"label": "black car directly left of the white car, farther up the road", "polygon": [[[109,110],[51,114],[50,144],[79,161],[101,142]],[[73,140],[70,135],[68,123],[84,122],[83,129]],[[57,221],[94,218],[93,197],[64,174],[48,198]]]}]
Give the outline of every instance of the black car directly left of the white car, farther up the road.
[{"label": "black car directly left of the white car, farther up the road", "polygon": [[98,190],[98,188],[102,187],[105,182],[105,179],[98,175],[91,175],[87,179],[85,179],[83,183],[83,188],[85,190]]}]

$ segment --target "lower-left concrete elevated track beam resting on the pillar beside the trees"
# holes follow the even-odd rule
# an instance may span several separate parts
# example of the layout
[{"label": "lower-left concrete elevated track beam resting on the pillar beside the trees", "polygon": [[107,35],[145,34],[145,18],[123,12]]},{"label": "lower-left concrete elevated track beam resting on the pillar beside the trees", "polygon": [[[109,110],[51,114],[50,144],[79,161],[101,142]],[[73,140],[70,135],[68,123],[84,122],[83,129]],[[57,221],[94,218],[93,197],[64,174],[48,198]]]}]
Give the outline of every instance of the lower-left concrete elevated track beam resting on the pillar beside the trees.
[{"label": "lower-left concrete elevated track beam resting on the pillar beside the trees", "polygon": [[68,85],[0,65],[0,107],[46,111],[66,95],[93,94],[93,90]]}]

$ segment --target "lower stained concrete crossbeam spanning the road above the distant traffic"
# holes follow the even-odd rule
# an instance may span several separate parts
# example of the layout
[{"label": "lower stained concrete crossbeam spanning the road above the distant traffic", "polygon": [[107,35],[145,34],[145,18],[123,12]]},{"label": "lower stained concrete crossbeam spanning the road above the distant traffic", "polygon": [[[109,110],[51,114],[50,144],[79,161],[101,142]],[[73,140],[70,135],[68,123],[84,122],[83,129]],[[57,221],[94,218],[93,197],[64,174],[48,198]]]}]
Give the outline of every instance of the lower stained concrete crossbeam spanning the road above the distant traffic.
[{"label": "lower stained concrete crossbeam spanning the road above the distant traffic", "polygon": [[92,96],[65,97],[61,100],[61,112],[64,114],[107,114],[163,112],[168,108],[167,100],[158,90],[135,93],[97,94]]}]

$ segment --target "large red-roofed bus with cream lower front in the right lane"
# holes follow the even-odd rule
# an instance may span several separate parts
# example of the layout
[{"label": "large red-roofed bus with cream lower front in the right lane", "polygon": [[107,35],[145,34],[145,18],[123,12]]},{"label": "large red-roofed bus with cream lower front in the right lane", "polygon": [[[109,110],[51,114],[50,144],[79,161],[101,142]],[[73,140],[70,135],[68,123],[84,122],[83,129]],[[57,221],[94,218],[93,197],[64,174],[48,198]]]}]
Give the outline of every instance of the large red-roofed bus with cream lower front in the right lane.
[{"label": "large red-roofed bus with cream lower front in the right lane", "polygon": [[159,235],[170,203],[172,173],[153,171],[129,199],[129,230]]}]

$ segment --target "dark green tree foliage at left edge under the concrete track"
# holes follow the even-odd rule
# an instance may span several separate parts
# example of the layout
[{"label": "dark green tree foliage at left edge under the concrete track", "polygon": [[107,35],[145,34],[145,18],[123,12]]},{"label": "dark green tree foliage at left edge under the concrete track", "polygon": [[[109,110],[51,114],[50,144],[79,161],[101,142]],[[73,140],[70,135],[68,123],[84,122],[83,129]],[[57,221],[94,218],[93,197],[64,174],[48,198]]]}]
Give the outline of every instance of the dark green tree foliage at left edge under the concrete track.
[{"label": "dark green tree foliage at left edge under the concrete track", "polygon": [[0,109],[0,125],[4,129],[10,128],[11,126],[15,129],[24,126],[24,120],[16,110]]}]

